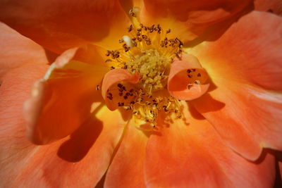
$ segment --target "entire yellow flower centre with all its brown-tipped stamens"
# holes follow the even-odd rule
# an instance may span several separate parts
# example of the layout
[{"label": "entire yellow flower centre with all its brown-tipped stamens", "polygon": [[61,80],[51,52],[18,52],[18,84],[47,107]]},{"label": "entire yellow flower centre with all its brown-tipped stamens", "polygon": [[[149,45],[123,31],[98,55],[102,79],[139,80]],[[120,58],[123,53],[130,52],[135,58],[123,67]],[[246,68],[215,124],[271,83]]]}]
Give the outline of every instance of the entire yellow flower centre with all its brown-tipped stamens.
[{"label": "entire yellow flower centre with all its brown-tipped stamens", "polygon": [[119,82],[116,89],[107,93],[107,98],[116,101],[120,108],[133,113],[136,124],[157,125],[160,111],[168,117],[174,114],[182,117],[182,106],[168,94],[166,89],[168,74],[173,58],[180,57],[183,43],[178,38],[169,39],[171,30],[163,30],[159,24],[145,26],[137,21],[137,9],[130,10],[133,25],[128,27],[128,35],[119,43],[121,49],[107,51],[106,63],[111,69],[123,68],[130,73],[139,73],[137,84]]}]

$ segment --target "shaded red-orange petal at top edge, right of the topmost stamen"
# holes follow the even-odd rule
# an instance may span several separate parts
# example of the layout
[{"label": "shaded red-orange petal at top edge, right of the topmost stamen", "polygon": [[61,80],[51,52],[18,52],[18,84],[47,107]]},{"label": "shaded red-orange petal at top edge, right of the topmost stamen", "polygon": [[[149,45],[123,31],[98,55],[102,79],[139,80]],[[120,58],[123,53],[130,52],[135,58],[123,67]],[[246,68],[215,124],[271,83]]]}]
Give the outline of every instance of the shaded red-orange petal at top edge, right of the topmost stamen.
[{"label": "shaded red-orange petal at top edge, right of the topmost stamen", "polygon": [[144,8],[142,8],[142,21],[149,24],[160,23],[168,27],[172,26],[173,31],[183,31],[182,34],[178,33],[180,39],[191,40],[202,35],[210,26],[238,15],[251,2],[251,0],[233,0],[226,4],[224,0],[145,0]]}]

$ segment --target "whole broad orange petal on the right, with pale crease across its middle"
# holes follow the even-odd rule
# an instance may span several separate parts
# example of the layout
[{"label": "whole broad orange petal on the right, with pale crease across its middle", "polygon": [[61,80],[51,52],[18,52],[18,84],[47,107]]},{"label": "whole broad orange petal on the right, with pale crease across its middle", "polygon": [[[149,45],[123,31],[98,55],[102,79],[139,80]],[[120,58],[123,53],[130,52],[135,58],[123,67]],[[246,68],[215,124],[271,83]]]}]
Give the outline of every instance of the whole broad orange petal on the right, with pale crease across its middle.
[{"label": "whole broad orange petal on the right, with pale crease across its middle", "polygon": [[[190,51],[216,85],[212,97],[192,103],[232,149],[250,160],[263,147],[282,150],[282,95],[264,90],[282,90],[281,32],[282,18],[253,12],[219,40]],[[215,109],[219,101],[225,106]]]}]

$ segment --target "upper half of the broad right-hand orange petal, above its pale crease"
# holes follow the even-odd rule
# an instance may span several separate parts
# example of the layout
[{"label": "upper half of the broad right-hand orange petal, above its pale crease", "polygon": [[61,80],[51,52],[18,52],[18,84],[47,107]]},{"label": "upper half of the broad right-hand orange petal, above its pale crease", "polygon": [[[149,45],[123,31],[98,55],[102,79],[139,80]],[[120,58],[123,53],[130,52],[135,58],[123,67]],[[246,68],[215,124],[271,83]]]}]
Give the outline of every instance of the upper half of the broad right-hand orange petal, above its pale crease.
[{"label": "upper half of the broad right-hand orange petal, above its pale crease", "polygon": [[195,46],[189,53],[200,60],[212,78],[282,90],[281,32],[281,17],[254,11],[218,40]]}]

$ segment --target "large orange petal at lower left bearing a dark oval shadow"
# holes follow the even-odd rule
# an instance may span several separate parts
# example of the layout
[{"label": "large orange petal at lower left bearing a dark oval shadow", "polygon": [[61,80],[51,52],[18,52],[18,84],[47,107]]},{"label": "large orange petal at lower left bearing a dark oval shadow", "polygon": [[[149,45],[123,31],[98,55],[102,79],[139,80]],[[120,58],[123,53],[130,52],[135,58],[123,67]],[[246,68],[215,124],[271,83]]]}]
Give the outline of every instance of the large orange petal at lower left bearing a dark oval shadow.
[{"label": "large orange petal at lower left bearing a dark oval shadow", "polygon": [[1,186],[94,187],[109,166],[125,122],[118,111],[99,107],[71,137],[33,145],[25,137],[22,106],[32,82],[45,71],[46,66],[24,65],[7,73],[0,87]]}]

